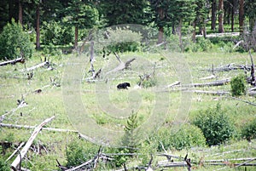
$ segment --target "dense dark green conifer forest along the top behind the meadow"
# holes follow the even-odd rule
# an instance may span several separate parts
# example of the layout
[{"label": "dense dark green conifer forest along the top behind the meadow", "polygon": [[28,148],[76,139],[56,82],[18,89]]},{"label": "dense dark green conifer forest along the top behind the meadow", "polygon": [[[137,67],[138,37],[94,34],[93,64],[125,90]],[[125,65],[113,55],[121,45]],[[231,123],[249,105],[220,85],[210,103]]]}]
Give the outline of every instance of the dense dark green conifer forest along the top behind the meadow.
[{"label": "dense dark green conifer forest along the top behind the meadow", "polygon": [[182,37],[188,32],[195,42],[196,34],[253,31],[255,9],[253,0],[3,0],[0,31],[14,19],[37,49],[78,48],[89,29],[119,24],[157,28],[158,43],[164,34]]}]

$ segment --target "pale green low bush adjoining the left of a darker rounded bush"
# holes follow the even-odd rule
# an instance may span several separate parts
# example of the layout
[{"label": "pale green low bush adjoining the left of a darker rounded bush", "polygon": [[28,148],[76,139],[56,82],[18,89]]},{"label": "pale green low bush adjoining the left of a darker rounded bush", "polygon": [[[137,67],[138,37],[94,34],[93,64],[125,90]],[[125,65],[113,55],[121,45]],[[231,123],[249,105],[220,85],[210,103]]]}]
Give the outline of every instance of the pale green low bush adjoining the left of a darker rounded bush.
[{"label": "pale green low bush adjoining the left of a darker rounded bush", "polygon": [[165,148],[174,148],[176,150],[206,145],[206,139],[201,129],[190,124],[184,124],[181,127],[172,126],[160,128],[156,137],[155,139],[158,141],[158,151],[163,151],[162,145]]}]

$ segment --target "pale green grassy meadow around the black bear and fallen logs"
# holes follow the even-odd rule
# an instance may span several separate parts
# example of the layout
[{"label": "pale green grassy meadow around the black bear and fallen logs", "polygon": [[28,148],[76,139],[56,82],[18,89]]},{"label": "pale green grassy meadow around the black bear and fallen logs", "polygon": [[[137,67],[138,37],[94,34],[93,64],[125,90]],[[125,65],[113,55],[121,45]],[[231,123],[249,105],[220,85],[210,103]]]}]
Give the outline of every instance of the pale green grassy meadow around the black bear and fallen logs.
[{"label": "pale green grassy meadow around the black bear and fallen logs", "polygon": [[[247,141],[241,137],[241,128],[256,117],[255,106],[248,105],[240,100],[234,100],[230,98],[231,94],[223,96],[196,94],[181,91],[183,88],[178,86],[167,88],[168,85],[181,79],[183,81],[181,81],[182,84],[209,83],[227,78],[231,79],[239,74],[244,74],[244,71],[241,70],[215,71],[214,78],[201,79],[212,75],[212,66],[213,68],[218,68],[229,64],[250,65],[250,58],[247,53],[228,53],[220,49],[196,53],[165,51],[160,51],[159,53],[119,53],[120,59],[124,62],[131,58],[136,58],[131,62],[130,68],[123,71],[113,71],[119,65],[114,54],[110,54],[104,59],[102,55],[98,55],[96,56],[94,67],[96,71],[102,68],[102,77],[96,80],[89,79],[91,77],[91,73],[88,72],[90,70],[89,54],[60,54],[49,58],[54,70],[40,67],[32,71],[33,76],[28,79],[27,73],[29,71],[26,71],[25,67],[28,68],[40,63],[40,55],[38,53],[32,59],[26,60],[26,64],[17,63],[16,65],[0,67],[0,115],[15,109],[18,106],[17,100],[20,100],[21,96],[24,97],[27,103],[26,106],[14,112],[9,112],[4,117],[3,123],[37,126],[44,119],[55,116],[54,120],[45,125],[46,128],[79,129],[79,131],[81,128],[90,129],[90,135],[97,137],[93,134],[94,132],[96,134],[101,134],[101,131],[104,132],[106,130],[109,130],[109,132],[123,132],[127,118],[131,115],[131,112],[136,112],[137,124],[143,125],[145,123],[143,125],[143,140],[148,140],[151,145],[143,142],[143,145],[139,147],[140,150],[137,151],[141,155],[127,160],[126,166],[131,167],[147,163],[150,153],[154,154],[154,166],[158,161],[166,160],[166,158],[156,155],[158,152],[164,152],[164,150],[156,150],[158,145],[155,142],[159,141],[154,141],[151,131],[157,134],[157,129],[172,128],[172,125],[182,123],[192,124],[191,121],[197,117],[198,113],[219,104],[227,116],[230,117],[235,127],[230,140],[221,145],[213,145],[211,147],[207,145],[192,145],[184,147],[182,150],[177,150],[172,146],[165,146],[165,150],[178,157],[184,157],[188,153],[191,161],[196,163],[192,163],[192,170],[217,170],[218,168],[232,170],[231,163],[226,166],[210,166],[207,163],[200,165],[198,163],[202,160],[256,157],[256,140]],[[78,73],[69,73],[67,67],[72,65],[72,62],[75,64],[73,59],[76,58],[79,58],[77,61],[80,64],[73,66],[73,71],[78,71]],[[256,61],[255,53],[253,54],[253,60]],[[108,71],[109,73],[106,74]],[[140,81],[138,76],[143,76],[144,74],[154,76],[152,78],[154,79],[152,81],[154,86],[138,88],[137,83]],[[247,72],[247,76],[249,74]],[[71,76],[70,79],[72,77],[80,78],[78,80],[79,85],[69,83],[67,75]],[[187,78],[190,80],[187,80]],[[55,79],[55,83],[60,83],[61,86],[55,86],[50,81],[53,79]],[[118,90],[116,88],[117,84],[124,82],[131,83],[131,87],[127,90]],[[35,92],[38,88],[42,89],[41,93]],[[64,92],[66,88],[70,92]],[[247,88],[251,88],[251,86],[247,84]],[[218,87],[191,89],[230,92],[230,83]],[[73,100],[73,96],[77,94],[79,94],[79,97]],[[70,99],[68,99],[69,97]],[[241,95],[239,98],[256,103],[253,96]],[[77,104],[76,100],[78,103],[81,102],[82,107]],[[81,107],[81,110],[79,107]],[[86,118],[90,118],[93,121],[93,127],[83,125],[83,119],[86,120]],[[81,127],[79,127],[79,124],[82,124]],[[101,128],[101,130],[94,130],[94,128]],[[33,129],[26,128],[0,128],[0,142],[12,142],[10,148],[2,148],[3,155],[0,157],[3,161],[15,151],[15,147],[20,142],[28,140],[32,131]],[[84,133],[89,132],[86,130]],[[115,142],[119,141],[118,135],[116,134],[116,137],[113,137]],[[108,135],[106,136],[108,137]],[[34,140],[33,148],[28,151],[22,161],[22,167],[30,170],[58,170],[55,160],[58,159],[61,164],[66,165],[68,162],[67,146],[73,142],[82,146],[85,149],[84,151],[90,152],[90,155],[84,154],[85,156],[87,155],[87,160],[91,156],[93,157],[99,148],[99,145],[93,145],[86,140],[79,139],[79,135],[73,132],[42,130]],[[40,146],[44,146],[44,148]],[[41,150],[37,152],[39,147]],[[111,147],[103,148],[105,153],[113,153],[113,151],[115,150]],[[7,164],[10,164],[15,157],[10,159]],[[100,164],[96,169],[107,170],[113,168],[109,165]],[[160,170],[160,168],[157,169]],[[168,169],[187,170],[187,168]],[[237,170],[245,170],[245,168],[239,167]],[[255,170],[255,167],[247,167],[246,170]]]}]

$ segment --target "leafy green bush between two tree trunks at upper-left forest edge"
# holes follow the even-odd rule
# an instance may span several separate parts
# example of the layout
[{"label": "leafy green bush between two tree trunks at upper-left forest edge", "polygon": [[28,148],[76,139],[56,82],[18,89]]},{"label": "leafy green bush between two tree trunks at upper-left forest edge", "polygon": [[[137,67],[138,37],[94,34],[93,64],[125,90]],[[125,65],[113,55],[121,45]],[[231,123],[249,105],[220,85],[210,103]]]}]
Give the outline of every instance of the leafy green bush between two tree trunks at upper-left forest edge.
[{"label": "leafy green bush between two tree trunks at upper-left forest edge", "polygon": [[51,20],[43,22],[42,43],[49,45],[64,45],[73,43],[74,31],[71,26],[63,26],[60,22]]}]

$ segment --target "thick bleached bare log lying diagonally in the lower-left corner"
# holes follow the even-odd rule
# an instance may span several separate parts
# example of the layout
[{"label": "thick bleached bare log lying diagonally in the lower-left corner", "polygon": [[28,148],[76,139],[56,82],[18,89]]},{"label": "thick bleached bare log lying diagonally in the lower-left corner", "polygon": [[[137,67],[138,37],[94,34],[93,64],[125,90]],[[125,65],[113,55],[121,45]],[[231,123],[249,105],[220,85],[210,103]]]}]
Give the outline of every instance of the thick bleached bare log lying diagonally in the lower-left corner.
[{"label": "thick bleached bare log lying diagonally in the lower-left corner", "polygon": [[54,118],[55,118],[55,116],[49,117],[49,118],[45,119],[43,123],[40,123],[38,125],[38,127],[35,128],[35,130],[33,131],[32,135],[31,135],[31,137],[27,140],[26,145],[20,151],[20,155],[17,156],[15,158],[15,161],[12,162],[12,164],[11,164],[11,168],[14,171],[17,171],[17,170],[20,169],[20,168],[18,168],[18,165],[20,165],[22,158],[25,157],[26,152],[29,150],[30,146],[32,145],[33,140],[37,137],[38,133],[41,131],[41,129],[44,127],[44,125],[49,123]]}]

